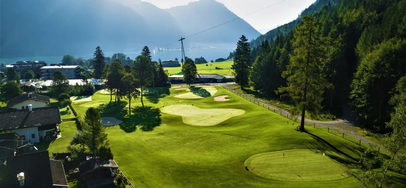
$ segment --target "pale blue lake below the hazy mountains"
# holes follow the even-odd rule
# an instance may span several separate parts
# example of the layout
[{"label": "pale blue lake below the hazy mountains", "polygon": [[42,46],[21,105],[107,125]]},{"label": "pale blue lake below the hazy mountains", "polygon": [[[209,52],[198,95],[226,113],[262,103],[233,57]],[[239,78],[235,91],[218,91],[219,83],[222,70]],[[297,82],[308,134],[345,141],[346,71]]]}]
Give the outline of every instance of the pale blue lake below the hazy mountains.
[{"label": "pale blue lake below the hazy mountains", "polygon": [[[235,48],[193,48],[193,49],[185,49],[185,55],[188,58],[205,58],[208,62],[210,60],[216,60],[218,58],[227,58],[231,51],[234,51]],[[106,56],[112,56],[115,52],[105,52]],[[140,55],[141,51],[139,52],[125,52],[127,57],[136,58],[136,56]],[[93,58],[93,53],[89,54],[79,54],[74,55],[75,58],[84,58],[89,59]],[[173,50],[173,51],[152,51],[151,52],[152,60],[158,61],[158,58],[161,60],[181,60],[182,51],[180,50]],[[35,57],[19,57],[19,58],[0,58],[0,62],[4,64],[14,64],[16,61],[45,61],[48,64],[53,63],[60,63],[63,56],[35,56]]]}]

